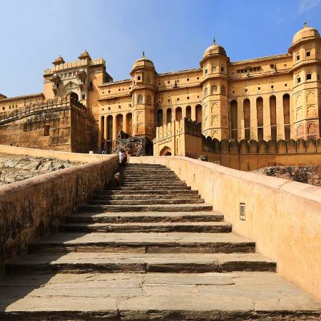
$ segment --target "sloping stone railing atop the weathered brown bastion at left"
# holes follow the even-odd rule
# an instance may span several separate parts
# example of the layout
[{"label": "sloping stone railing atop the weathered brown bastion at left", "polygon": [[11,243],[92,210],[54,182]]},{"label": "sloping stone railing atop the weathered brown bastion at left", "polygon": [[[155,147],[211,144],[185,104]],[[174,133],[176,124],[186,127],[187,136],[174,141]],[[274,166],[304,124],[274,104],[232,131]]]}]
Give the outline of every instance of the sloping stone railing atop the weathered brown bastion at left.
[{"label": "sloping stone railing atop the weathered brown bastion at left", "polygon": [[5,123],[11,123],[22,118],[26,118],[38,113],[44,113],[49,111],[59,111],[61,109],[76,108],[81,113],[86,113],[87,109],[81,102],[78,101],[73,94],[63,98],[47,99],[46,101],[39,101],[31,103],[21,108],[15,108],[12,111],[0,113],[0,125]]}]

